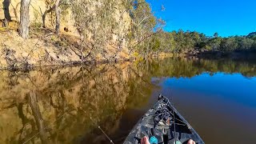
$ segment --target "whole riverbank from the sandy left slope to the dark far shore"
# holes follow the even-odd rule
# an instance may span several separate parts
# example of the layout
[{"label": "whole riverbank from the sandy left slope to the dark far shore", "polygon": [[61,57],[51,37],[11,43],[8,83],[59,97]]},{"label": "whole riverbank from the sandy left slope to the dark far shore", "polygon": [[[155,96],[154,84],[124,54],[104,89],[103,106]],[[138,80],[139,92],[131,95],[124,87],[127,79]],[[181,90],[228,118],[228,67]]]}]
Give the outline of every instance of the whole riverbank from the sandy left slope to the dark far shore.
[{"label": "whole riverbank from the sandy left slope to the dark far shore", "polygon": [[0,70],[31,70],[41,66],[78,66],[108,62],[134,62],[146,58],[189,58],[189,59],[254,59],[255,52],[222,52],[214,50],[189,50],[181,54],[156,53],[142,58],[140,54],[130,53],[123,47],[116,50],[106,46],[98,53],[94,47],[83,47],[81,50],[78,36],[62,32],[58,37],[54,30],[33,29],[29,39],[18,36],[15,30],[0,31]]}]

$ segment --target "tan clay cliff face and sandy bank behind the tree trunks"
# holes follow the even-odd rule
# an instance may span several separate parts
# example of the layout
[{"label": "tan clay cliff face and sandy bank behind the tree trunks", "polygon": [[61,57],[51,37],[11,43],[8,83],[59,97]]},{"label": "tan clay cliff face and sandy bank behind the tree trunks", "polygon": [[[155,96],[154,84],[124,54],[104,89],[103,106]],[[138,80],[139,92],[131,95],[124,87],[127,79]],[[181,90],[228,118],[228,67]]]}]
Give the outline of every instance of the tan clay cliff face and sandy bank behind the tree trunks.
[{"label": "tan clay cliff face and sandy bank behind the tree trunks", "polygon": [[[87,1],[86,1],[87,2]],[[105,1],[88,1],[88,15],[94,15],[101,10]],[[18,36],[20,0],[4,0],[0,3],[0,19],[10,18],[9,29],[0,26],[0,69],[27,66],[65,65],[87,61],[125,60],[131,58],[128,47],[130,39],[131,18],[122,1],[110,0],[113,8],[102,10],[102,20],[96,19],[83,31],[85,48],[81,50],[81,35],[74,13],[69,5],[61,5],[61,35],[54,35],[54,12],[46,15],[46,29],[42,29],[42,15],[53,3],[46,0],[32,0],[30,5],[30,38]],[[106,6],[105,6],[106,7]],[[101,11],[100,11],[101,12]],[[107,14],[110,12],[110,14]],[[100,26],[104,14],[110,15],[111,21],[106,26]],[[99,14],[99,13],[97,13]],[[99,18],[100,19],[100,18]],[[103,22],[104,23],[104,22]],[[98,29],[97,29],[97,26]],[[94,28],[89,30],[90,28]],[[104,31],[99,35],[99,31]],[[98,39],[93,39],[95,34]],[[104,38],[107,37],[107,38]],[[101,41],[102,42],[99,42]],[[104,41],[104,42],[103,42]],[[98,45],[98,42],[100,43]],[[95,44],[96,43],[96,44]],[[91,48],[92,45],[97,48]],[[82,52],[81,52],[82,51]],[[86,57],[86,58],[84,58]]]}]

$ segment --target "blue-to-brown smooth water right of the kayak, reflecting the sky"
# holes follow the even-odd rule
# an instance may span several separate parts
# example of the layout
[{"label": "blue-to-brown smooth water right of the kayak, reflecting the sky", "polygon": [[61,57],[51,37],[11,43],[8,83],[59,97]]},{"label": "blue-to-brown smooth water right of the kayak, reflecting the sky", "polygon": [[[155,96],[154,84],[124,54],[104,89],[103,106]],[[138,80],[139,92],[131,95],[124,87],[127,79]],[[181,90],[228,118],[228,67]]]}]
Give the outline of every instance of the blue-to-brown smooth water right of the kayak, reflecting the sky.
[{"label": "blue-to-brown smooth water right of the kayak, reflecting the sky", "polygon": [[164,78],[158,93],[172,98],[206,143],[256,142],[256,77],[204,73]]}]

